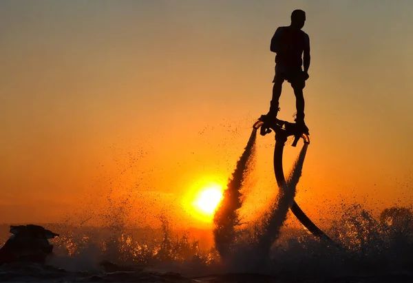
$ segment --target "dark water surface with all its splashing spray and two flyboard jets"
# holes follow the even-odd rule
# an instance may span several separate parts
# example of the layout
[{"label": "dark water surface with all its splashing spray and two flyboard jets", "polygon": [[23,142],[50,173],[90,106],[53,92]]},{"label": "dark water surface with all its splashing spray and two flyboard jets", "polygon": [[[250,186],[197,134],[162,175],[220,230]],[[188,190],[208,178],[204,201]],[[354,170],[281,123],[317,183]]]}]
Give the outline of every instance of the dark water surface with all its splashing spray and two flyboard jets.
[{"label": "dark water surface with all its splashing spray and two flyboard jets", "polygon": [[[413,215],[392,207],[375,219],[360,204],[343,205],[324,232],[288,227],[288,208],[304,165],[301,150],[285,185],[261,219],[242,224],[242,186],[253,169],[256,130],[235,166],[213,231],[176,231],[161,218],[150,227],[45,224],[61,234],[46,264],[0,266],[2,282],[412,282]],[[7,229],[7,227],[5,227]],[[211,238],[209,244],[200,240]],[[202,238],[201,237],[201,238]],[[3,242],[6,240],[3,237]]]}]

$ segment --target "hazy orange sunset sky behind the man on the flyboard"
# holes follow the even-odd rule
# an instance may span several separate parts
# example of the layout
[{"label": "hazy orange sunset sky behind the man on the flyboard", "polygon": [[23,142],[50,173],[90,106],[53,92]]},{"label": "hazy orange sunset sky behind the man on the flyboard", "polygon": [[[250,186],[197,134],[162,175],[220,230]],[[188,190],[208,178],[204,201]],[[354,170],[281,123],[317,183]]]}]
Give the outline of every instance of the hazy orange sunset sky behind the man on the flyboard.
[{"label": "hazy orange sunset sky behind the man on the flyboard", "polygon": [[[412,1],[10,0],[0,2],[0,222],[87,218],[131,199],[136,221],[192,219],[182,200],[226,183],[268,112],[270,40],[297,8],[311,48],[297,202],[316,218],[343,202],[410,205]],[[293,120],[288,83],[280,107]],[[257,143],[246,207],[260,210],[277,189],[273,136]],[[298,150],[286,147],[286,168]]]}]

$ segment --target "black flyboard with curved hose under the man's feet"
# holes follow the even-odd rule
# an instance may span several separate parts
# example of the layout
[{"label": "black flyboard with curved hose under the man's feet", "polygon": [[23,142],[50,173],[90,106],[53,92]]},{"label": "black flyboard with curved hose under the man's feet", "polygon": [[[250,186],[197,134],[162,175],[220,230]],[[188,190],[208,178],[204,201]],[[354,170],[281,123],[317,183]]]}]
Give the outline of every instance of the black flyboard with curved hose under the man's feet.
[{"label": "black flyboard with curved hose under the man's feet", "polygon": [[[296,123],[289,123],[284,120],[279,120],[277,118],[271,118],[271,120],[266,116],[262,115],[257,122],[253,125],[254,129],[260,129],[260,134],[265,136],[271,133],[273,130],[275,132],[275,149],[274,149],[274,173],[277,179],[278,187],[284,187],[286,185],[286,179],[284,177],[284,169],[282,167],[282,156],[284,152],[284,145],[287,141],[288,136],[294,136],[294,141],[292,146],[297,146],[299,138],[303,138],[304,146],[310,144],[310,137],[308,128],[305,125],[297,125]],[[328,242],[334,243],[326,233],[321,231],[313,221],[306,216],[306,213],[300,209],[297,202],[293,200],[293,205],[290,207],[291,211],[297,217],[299,222],[308,229],[313,235],[322,240],[327,240]]]}]

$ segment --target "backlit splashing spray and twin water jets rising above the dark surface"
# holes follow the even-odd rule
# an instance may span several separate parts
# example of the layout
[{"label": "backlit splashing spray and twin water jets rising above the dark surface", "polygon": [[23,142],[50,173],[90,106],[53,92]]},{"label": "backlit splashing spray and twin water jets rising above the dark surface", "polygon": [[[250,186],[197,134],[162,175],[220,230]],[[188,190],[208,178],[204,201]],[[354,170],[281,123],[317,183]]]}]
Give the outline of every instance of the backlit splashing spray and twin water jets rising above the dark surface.
[{"label": "backlit splashing spray and twin water jets rising above the dark surface", "polygon": [[[335,220],[326,224],[328,235],[346,247],[340,251],[328,247],[302,228],[283,226],[301,176],[306,146],[301,149],[286,184],[279,188],[266,217],[257,223],[257,230],[248,234],[240,229],[237,214],[237,209],[242,207],[240,189],[253,169],[255,139],[253,130],[237,161],[224,202],[215,215],[215,249],[201,249],[198,239],[191,238],[189,233],[177,235],[172,231],[170,219],[161,218],[160,229],[127,227],[123,216],[130,204],[120,201],[106,207],[105,227],[53,228],[47,225],[62,235],[52,240],[56,258],[50,263],[67,270],[83,271],[96,269],[102,260],[107,260],[188,276],[260,272],[284,282],[346,282],[350,276],[355,278],[351,279],[354,282],[367,282],[363,278],[368,276],[371,276],[368,282],[383,281],[381,278],[390,278],[386,282],[398,278],[397,282],[410,282],[403,279],[403,276],[413,276],[413,214],[410,208],[385,209],[374,219],[366,207],[348,205],[343,200],[342,207],[329,215]],[[62,262],[67,258],[72,261]],[[371,280],[372,277],[376,280]],[[235,280],[229,278],[227,281]]]}]

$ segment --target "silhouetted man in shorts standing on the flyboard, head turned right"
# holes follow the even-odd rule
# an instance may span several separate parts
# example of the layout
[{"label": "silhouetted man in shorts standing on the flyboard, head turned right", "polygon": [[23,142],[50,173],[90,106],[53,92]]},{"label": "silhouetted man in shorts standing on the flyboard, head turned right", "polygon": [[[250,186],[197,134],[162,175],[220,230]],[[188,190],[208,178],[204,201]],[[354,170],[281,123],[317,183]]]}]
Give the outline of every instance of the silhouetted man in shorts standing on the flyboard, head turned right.
[{"label": "silhouetted man in shorts standing on the flyboard, head turned right", "polygon": [[[306,12],[294,10],[291,14],[291,24],[279,27],[271,39],[270,50],[277,53],[275,56],[275,76],[273,98],[271,100],[268,118],[277,118],[279,112],[279,96],[282,92],[282,83],[288,81],[294,90],[296,98],[297,124],[304,125],[304,94],[310,67],[310,38],[302,31],[306,21]],[[304,53],[303,58],[301,55]],[[304,65],[304,71],[301,69]]]}]

